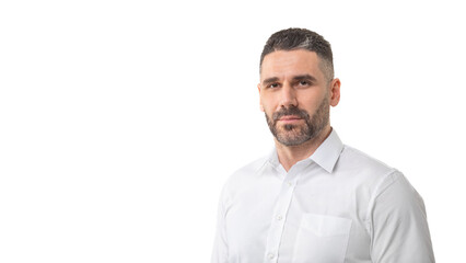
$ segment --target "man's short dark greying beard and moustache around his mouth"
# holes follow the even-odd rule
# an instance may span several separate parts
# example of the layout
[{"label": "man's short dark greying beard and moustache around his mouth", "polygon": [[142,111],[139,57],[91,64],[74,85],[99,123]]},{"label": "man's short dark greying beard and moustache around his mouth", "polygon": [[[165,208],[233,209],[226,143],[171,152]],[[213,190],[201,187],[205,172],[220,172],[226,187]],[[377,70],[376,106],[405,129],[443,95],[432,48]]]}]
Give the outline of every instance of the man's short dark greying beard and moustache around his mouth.
[{"label": "man's short dark greying beard and moustache around his mouth", "polygon": [[[295,115],[304,119],[304,125],[286,124],[278,127],[279,118],[288,115]],[[316,138],[328,125],[330,116],[329,102],[326,96],[318,106],[317,111],[311,117],[310,114],[296,106],[281,108],[272,114],[270,118],[266,113],[267,124],[275,138],[284,146],[298,146],[307,140]]]}]

